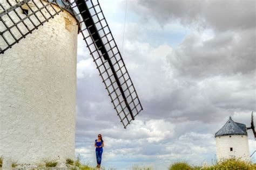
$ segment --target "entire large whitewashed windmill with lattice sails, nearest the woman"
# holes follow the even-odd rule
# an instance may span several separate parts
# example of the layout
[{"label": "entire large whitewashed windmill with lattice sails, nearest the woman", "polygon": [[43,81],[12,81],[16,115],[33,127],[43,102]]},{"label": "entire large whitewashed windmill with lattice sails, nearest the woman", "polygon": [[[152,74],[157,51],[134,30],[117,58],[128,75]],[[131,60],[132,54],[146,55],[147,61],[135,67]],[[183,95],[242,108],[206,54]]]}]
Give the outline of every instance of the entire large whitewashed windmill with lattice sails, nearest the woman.
[{"label": "entire large whitewashed windmill with lattice sails, nearest the woman", "polygon": [[143,109],[98,1],[0,2],[4,160],[74,159],[78,33],[124,128]]}]

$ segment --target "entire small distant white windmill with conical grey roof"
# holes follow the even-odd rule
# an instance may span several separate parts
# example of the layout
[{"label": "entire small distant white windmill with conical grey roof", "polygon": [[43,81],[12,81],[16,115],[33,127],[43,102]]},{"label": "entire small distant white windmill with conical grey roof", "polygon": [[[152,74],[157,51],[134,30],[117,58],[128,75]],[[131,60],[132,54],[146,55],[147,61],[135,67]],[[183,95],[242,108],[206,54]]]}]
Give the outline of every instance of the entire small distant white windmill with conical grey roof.
[{"label": "entire small distant white windmill with conical grey roof", "polygon": [[230,158],[250,161],[247,129],[252,129],[256,137],[253,113],[249,128],[246,128],[245,124],[234,122],[231,117],[228,119],[225,125],[215,133],[217,161]]}]

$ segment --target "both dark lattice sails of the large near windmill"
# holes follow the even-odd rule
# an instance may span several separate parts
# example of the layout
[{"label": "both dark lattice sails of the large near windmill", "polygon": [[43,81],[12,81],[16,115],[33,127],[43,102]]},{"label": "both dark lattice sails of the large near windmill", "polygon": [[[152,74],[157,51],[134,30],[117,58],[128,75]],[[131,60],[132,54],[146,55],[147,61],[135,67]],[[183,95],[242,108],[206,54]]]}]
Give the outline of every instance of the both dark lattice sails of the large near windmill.
[{"label": "both dark lattice sails of the large near windmill", "polygon": [[[0,4],[0,54],[60,12],[71,10],[124,128],[143,110],[99,1],[7,0],[7,3],[8,8]],[[30,11],[27,15],[20,14],[24,6]]]}]

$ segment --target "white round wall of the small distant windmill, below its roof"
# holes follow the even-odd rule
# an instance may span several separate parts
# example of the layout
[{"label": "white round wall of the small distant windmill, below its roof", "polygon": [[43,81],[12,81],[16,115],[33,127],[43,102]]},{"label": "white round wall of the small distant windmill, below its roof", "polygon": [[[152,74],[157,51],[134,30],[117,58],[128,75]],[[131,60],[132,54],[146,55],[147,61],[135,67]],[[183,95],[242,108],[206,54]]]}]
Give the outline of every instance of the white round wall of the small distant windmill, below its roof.
[{"label": "white round wall of the small distant windmill, below its roof", "polygon": [[[230,151],[230,148],[233,151]],[[248,138],[245,135],[232,135],[216,137],[217,160],[232,157],[250,161]]]}]

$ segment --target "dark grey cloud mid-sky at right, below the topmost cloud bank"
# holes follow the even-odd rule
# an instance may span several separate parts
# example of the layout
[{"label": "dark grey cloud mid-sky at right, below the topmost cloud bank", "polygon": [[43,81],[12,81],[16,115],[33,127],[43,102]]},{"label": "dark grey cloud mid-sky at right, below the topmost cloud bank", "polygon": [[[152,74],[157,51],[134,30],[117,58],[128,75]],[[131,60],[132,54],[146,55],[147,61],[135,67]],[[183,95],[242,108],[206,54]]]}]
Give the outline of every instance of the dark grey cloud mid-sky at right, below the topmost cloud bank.
[{"label": "dark grey cloud mid-sky at right, below the topmost cloud bank", "polygon": [[200,36],[192,35],[167,58],[178,75],[196,79],[252,73],[256,62],[255,38],[254,30],[218,34],[203,42],[198,40]]}]

